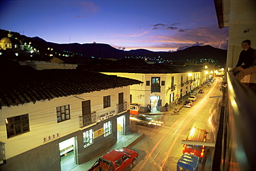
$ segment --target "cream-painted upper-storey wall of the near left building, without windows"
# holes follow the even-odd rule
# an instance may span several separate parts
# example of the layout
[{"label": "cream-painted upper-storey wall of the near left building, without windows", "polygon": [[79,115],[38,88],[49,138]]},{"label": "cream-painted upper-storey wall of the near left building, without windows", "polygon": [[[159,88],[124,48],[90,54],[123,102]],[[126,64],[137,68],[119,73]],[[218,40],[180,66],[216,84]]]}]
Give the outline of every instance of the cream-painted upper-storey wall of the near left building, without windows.
[{"label": "cream-painted upper-storey wall of the near left building, without windows", "polygon": [[[91,100],[91,112],[97,112],[97,117],[112,110],[116,111],[118,104],[118,93],[124,92],[124,100],[129,102],[129,86],[80,94],[84,100]],[[111,107],[103,109],[103,97],[111,95]],[[51,101],[37,101],[37,103],[26,103],[24,105],[3,107],[0,110],[0,141],[5,143],[6,159],[17,154],[26,152],[39,145],[43,145],[44,138],[59,134],[64,137],[80,129],[79,116],[82,116],[82,101],[75,96],[55,98]],[[71,119],[57,123],[56,107],[70,105]],[[28,114],[30,132],[19,134],[7,139],[5,119],[22,114]],[[55,139],[57,139],[56,137]],[[52,140],[50,140],[52,141]]]}]

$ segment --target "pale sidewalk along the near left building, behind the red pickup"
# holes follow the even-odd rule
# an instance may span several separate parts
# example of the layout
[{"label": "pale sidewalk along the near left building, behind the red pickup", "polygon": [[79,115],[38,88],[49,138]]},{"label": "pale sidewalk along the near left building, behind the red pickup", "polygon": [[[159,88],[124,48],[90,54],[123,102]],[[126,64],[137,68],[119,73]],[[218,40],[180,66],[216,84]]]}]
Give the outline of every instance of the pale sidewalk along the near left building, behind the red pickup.
[{"label": "pale sidewalk along the near left building, behind the red pickup", "polygon": [[[107,152],[109,152],[111,150],[118,150],[122,147],[132,148],[136,143],[138,143],[138,141],[143,139],[143,137],[144,137],[144,134],[140,133],[140,132],[134,132],[131,134],[127,134],[124,137],[122,137],[121,139],[118,139],[118,141],[116,141],[115,145],[113,145],[111,148],[107,149],[105,152],[102,152],[102,155],[106,154]],[[91,161],[87,161],[86,163],[77,165],[77,166],[75,166],[75,168],[71,169],[71,171],[89,170],[97,159],[98,159],[98,157],[96,157],[95,159],[91,159]]]}]

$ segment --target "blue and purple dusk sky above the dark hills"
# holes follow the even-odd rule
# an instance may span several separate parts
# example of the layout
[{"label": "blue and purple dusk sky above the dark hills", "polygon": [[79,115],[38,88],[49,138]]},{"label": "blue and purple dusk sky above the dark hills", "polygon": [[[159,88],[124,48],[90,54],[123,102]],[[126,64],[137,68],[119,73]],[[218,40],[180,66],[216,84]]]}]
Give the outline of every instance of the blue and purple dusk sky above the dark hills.
[{"label": "blue and purple dusk sky above the dark hills", "polygon": [[152,51],[226,49],[214,0],[1,0],[0,28],[53,43]]}]

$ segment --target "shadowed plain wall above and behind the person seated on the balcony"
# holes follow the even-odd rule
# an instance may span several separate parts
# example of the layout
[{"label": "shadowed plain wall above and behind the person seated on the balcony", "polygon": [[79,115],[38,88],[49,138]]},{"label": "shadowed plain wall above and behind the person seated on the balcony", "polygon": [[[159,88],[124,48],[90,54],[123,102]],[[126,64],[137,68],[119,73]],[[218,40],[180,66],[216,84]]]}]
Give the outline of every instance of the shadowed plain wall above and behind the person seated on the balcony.
[{"label": "shadowed plain wall above and behind the person seated on the balcony", "polygon": [[[235,68],[241,50],[241,42],[250,39],[256,48],[256,2],[232,1],[228,6],[228,57],[227,68]],[[226,9],[225,9],[226,10]]]}]

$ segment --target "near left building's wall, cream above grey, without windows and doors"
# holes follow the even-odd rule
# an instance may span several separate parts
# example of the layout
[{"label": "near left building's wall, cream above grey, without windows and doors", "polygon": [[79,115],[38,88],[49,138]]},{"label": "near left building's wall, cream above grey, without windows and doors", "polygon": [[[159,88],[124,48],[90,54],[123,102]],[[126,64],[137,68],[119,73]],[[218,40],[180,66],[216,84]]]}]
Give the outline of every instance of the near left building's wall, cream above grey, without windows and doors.
[{"label": "near left building's wall, cream above grey, without windows and doors", "polygon": [[[124,114],[129,116],[129,110],[120,114],[115,112],[116,115],[109,119],[94,123],[86,128],[80,128],[81,104],[82,101],[91,100],[91,112],[95,111],[98,117],[106,112],[116,111],[118,93],[120,92],[124,93],[124,101],[129,101],[129,86],[127,86],[77,96],[55,98],[51,101],[37,101],[35,104],[26,103],[10,108],[3,107],[0,110],[0,141],[5,145],[3,150],[6,155],[6,164],[1,165],[1,169],[15,170],[18,167],[18,170],[22,170],[23,165],[23,170],[41,170],[37,167],[47,168],[42,170],[51,170],[51,168],[60,170],[59,143],[71,137],[77,137],[78,163],[90,159],[92,157],[91,153],[97,154],[100,150],[109,148],[117,139],[116,118]],[[103,108],[103,97],[107,95],[111,95],[111,106]],[[56,107],[68,104],[70,105],[71,119],[57,123]],[[5,119],[22,114],[28,114],[30,131],[8,139]],[[84,148],[82,133],[89,129],[98,130],[103,128],[103,123],[108,120],[112,121],[112,134],[107,137],[97,137],[92,145]],[[127,126],[129,127],[129,125]],[[58,136],[56,136],[57,134]],[[55,138],[53,138],[53,135],[55,135]],[[48,139],[48,137],[51,137],[51,139]],[[46,141],[44,141],[44,138],[46,138]],[[20,161],[23,161],[23,163],[19,165]]]}]

